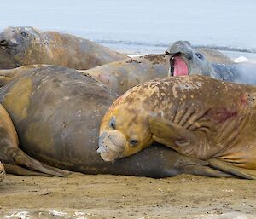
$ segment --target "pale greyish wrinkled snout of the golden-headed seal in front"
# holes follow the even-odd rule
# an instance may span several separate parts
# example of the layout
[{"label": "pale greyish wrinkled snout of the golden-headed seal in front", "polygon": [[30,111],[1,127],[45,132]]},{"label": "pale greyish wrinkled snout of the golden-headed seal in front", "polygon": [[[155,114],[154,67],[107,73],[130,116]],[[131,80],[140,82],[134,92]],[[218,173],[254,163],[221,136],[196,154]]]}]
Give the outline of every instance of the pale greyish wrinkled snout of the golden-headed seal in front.
[{"label": "pale greyish wrinkled snout of the golden-headed seal in front", "polygon": [[125,135],[118,130],[102,131],[97,153],[101,154],[103,160],[113,161],[125,150],[125,142]]}]

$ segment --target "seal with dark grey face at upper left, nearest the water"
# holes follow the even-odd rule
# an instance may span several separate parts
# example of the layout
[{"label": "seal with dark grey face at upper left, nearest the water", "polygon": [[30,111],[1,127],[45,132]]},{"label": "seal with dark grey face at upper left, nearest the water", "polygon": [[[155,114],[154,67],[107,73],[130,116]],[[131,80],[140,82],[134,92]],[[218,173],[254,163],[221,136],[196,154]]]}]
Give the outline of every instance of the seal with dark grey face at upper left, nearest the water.
[{"label": "seal with dark grey face at upper left, nearest the water", "polygon": [[8,27],[0,34],[0,47],[20,66],[48,64],[89,69],[127,58],[90,40],[36,28]]}]

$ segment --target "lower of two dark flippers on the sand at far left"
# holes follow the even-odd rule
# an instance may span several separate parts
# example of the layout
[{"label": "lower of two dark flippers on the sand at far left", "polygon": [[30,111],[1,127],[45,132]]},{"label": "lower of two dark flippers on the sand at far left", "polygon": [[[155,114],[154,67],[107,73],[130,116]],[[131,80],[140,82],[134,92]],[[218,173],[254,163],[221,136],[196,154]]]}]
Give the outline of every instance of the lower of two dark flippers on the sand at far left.
[{"label": "lower of two dark flippers on the sand at far left", "polygon": [[14,174],[19,176],[51,176],[45,173],[37,171],[27,170],[21,166],[15,164],[3,164],[5,172],[8,174]]}]

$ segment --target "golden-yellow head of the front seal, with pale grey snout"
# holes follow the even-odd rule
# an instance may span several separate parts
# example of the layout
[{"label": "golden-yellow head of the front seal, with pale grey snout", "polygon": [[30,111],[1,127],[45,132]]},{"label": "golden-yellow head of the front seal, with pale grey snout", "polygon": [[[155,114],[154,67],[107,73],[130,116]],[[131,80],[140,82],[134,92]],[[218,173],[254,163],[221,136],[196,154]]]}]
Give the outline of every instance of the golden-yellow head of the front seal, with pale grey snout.
[{"label": "golden-yellow head of the front seal, with pale grey snout", "polygon": [[105,161],[130,156],[153,142],[146,111],[134,111],[133,96],[124,98],[127,95],[119,97],[102,119],[97,152]]}]

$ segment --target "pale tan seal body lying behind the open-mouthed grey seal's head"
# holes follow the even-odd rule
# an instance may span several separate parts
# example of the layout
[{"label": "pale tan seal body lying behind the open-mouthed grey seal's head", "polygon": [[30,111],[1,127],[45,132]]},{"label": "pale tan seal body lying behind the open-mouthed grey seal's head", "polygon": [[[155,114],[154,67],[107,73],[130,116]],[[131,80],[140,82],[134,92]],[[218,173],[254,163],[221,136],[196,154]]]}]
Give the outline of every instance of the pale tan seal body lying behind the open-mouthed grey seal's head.
[{"label": "pale tan seal body lying behind the open-mouthed grey seal's head", "polygon": [[[224,63],[233,63],[230,58],[214,49],[196,49],[196,51],[205,55],[207,61],[222,60]],[[114,61],[83,72],[90,74],[122,95],[138,84],[168,76],[168,69],[168,55],[149,54],[123,61]]]}]

